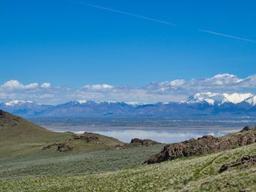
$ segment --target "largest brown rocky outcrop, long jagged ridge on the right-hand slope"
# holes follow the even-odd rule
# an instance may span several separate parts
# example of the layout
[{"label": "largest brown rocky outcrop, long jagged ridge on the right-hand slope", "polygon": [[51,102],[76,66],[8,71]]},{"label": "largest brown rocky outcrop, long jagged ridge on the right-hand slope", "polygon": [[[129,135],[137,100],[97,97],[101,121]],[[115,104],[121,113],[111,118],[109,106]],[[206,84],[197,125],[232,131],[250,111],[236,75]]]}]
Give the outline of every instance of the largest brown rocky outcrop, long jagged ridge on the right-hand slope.
[{"label": "largest brown rocky outcrop, long jagged ridge on the right-hand slope", "polygon": [[153,155],[145,161],[145,164],[156,164],[181,157],[216,153],[223,150],[250,145],[255,142],[256,127],[249,128],[246,126],[236,134],[230,134],[221,138],[207,135],[198,139],[189,139],[184,142],[166,145],[159,154]]}]

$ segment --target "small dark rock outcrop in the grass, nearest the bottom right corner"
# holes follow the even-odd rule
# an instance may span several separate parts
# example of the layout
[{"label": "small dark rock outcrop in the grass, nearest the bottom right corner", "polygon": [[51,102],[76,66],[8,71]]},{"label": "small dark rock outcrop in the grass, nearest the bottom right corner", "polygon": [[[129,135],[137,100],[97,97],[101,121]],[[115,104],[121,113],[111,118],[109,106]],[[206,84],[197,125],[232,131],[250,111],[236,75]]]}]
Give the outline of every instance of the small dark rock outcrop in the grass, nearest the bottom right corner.
[{"label": "small dark rock outcrop in the grass, nearest the bottom right corner", "polygon": [[251,166],[256,163],[256,155],[250,156],[250,155],[244,155],[242,158],[239,158],[236,160],[236,162],[230,163],[230,164],[224,164],[219,169],[219,172],[225,172],[227,169],[232,169],[235,166]]}]

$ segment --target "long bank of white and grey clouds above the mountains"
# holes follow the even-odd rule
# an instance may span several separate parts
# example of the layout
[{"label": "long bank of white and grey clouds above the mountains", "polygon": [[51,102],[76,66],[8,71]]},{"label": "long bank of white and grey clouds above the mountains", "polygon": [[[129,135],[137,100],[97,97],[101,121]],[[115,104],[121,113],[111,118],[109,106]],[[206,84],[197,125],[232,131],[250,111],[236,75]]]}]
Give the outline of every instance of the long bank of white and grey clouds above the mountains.
[{"label": "long bank of white and grey clouds above the mountains", "polygon": [[32,100],[42,104],[60,104],[72,99],[142,103],[181,101],[199,92],[256,93],[256,74],[246,78],[233,74],[217,74],[203,79],[151,82],[142,87],[104,83],[71,88],[51,85],[50,82],[23,85],[18,80],[9,80],[0,85],[2,101]]}]

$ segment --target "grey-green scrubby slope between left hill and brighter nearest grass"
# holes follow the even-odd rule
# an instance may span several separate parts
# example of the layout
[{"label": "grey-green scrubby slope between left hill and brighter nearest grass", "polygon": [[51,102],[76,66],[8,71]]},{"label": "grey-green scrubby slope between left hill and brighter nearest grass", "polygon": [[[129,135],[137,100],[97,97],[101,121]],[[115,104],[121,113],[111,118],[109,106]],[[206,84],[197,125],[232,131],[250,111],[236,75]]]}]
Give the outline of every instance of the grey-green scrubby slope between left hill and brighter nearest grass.
[{"label": "grey-green scrubby slope between left hill and brighter nearest grass", "polygon": [[94,174],[141,166],[163,145],[129,147],[123,150],[71,151],[61,153],[40,150],[1,162],[0,178],[38,177],[42,175]]}]

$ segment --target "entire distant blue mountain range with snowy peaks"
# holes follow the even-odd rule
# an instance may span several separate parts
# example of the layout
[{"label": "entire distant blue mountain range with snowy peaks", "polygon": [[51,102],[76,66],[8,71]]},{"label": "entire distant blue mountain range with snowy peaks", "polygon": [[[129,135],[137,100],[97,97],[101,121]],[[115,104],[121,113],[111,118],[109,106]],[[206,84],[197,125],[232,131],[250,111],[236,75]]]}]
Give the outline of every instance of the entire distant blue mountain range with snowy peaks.
[{"label": "entire distant blue mountain range with snowy peaks", "polygon": [[252,93],[196,93],[180,102],[154,104],[119,101],[69,101],[46,105],[34,101],[9,101],[0,109],[23,117],[189,117],[256,115],[256,95]]}]

